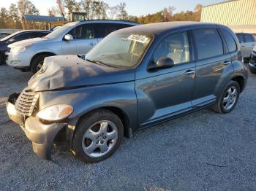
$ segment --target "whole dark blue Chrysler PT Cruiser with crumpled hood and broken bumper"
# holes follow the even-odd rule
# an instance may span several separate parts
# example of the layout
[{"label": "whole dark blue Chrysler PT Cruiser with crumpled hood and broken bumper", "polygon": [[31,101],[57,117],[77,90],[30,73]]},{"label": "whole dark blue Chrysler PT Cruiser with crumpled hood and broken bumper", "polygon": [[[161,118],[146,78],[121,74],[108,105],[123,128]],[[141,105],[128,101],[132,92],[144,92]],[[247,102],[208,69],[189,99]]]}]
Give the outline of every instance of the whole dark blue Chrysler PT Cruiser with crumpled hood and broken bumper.
[{"label": "whole dark blue Chrysler PT Cruiser with crumpled hood and broken bumper", "polygon": [[154,23],[113,32],[87,55],[45,58],[7,112],[39,157],[65,139],[86,163],[110,157],[124,136],[198,109],[231,112],[246,66],[235,34],[210,23]]}]

